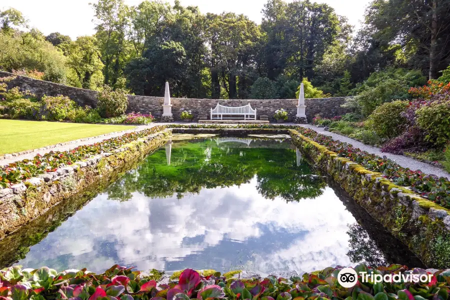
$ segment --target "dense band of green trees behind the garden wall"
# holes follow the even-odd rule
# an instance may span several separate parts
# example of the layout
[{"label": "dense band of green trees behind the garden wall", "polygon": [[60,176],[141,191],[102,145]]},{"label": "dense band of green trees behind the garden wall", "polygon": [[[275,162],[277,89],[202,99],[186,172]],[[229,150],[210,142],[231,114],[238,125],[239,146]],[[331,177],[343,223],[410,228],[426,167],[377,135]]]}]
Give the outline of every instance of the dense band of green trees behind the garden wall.
[{"label": "dense band of green trees behind the garden wall", "polygon": [[74,41],[20,31],[27,20],[8,8],[0,11],[0,67],[86,88],[162,95],[169,81],[173,96],[246,99],[293,98],[305,78],[316,95],[345,96],[374,72],[395,67],[437,78],[450,64],[450,0],[372,0],[358,32],[320,1],[267,0],[261,8],[258,24],[179,0],[99,0],[94,36]]}]

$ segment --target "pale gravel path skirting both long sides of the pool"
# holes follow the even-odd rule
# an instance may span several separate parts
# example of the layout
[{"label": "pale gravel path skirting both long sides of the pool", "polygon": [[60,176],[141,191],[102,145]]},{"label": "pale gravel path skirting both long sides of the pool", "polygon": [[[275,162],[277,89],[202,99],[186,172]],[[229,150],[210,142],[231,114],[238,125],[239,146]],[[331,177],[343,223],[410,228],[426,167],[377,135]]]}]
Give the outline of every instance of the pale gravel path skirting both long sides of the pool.
[{"label": "pale gravel path skirting both long sides of the pool", "polygon": [[[47,149],[45,151],[34,150],[33,152],[29,152],[29,153],[26,153],[26,154],[21,154],[21,155],[18,155],[18,156],[13,156],[13,157],[9,157],[9,158],[0,159],[0,165],[8,164],[10,162],[14,162],[14,161],[17,161],[17,160],[22,160],[22,159],[32,159],[34,156],[36,156],[37,153],[43,154],[43,153],[48,152],[50,150],[53,150],[53,151],[66,151],[66,150],[73,149],[73,148],[75,148],[77,146],[80,146],[80,145],[92,144],[92,143],[96,143],[96,142],[102,141],[102,140],[107,139],[107,138],[116,137],[116,136],[122,135],[125,132],[140,131],[140,130],[147,129],[147,128],[150,128],[150,127],[153,127],[153,126],[156,126],[156,125],[165,125],[165,124],[174,124],[174,123],[175,124],[176,123],[185,124],[185,125],[197,124],[197,123],[186,123],[186,122],[173,122],[173,123],[163,123],[163,122],[159,123],[159,122],[157,122],[157,123],[151,123],[151,124],[148,124],[148,125],[138,125],[136,128],[125,130],[125,131],[112,132],[112,133],[109,133],[109,134],[104,135],[104,136],[94,137],[94,138],[90,138],[90,139],[86,139],[86,140],[76,140],[76,141],[73,141],[73,142],[70,142],[70,143],[64,144],[64,145],[54,145],[54,146],[52,146],[51,149]],[[222,125],[226,125],[226,124],[222,124]],[[285,123],[285,125],[298,125],[298,124]],[[309,124],[303,124],[301,126],[307,127],[307,128],[311,128],[311,129],[313,129],[313,130],[315,130],[315,131],[317,131],[317,132],[319,132],[321,134],[329,135],[329,136],[331,136],[332,138],[334,138],[336,140],[340,140],[340,141],[349,143],[352,146],[354,146],[356,148],[359,148],[361,150],[367,151],[369,153],[373,153],[373,154],[376,154],[376,155],[379,155],[379,156],[386,155],[388,158],[390,158],[393,161],[397,162],[399,165],[404,166],[404,167],[408,167],[408,168],[410,168],[412,170],[419,169],[419,170],[421,170],[422,172],[424,172],[426,174],[435,174],[437,176],[443,176],[443,177],[450,178],[450,174],[449,173],[445,172],[444,170],[442,170],[442,169],[440,169],[438,167],[430,165],[428,163],[425,163],[425,162],[422,162],[422,161],[419,161],[419,160],[415,160],[413,158],[406,157],[404,155],[397,155],[397,154],[381,152],[380,148],[363,144],[362,142],[359,142],[359,141],[354,140],[352,138],[349,138],[347,136],[343,136],[343,135],[340,135],[340,134],[337,134],[337,133],[325,131],[325,130],[323,130],[323,127],[316,127],[314,125],[309,125]]]}]

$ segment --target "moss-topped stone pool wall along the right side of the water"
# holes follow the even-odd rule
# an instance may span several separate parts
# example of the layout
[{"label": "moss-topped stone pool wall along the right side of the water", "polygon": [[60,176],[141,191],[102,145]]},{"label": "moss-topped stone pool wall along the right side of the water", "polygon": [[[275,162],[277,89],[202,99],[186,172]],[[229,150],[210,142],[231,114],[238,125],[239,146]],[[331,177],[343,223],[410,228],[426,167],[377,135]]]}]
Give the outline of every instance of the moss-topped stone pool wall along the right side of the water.
[{"label": "moss-topped stone pool wall along the right side of the water", "polygon": [[424,264],[450,264],[450,210],[398,186],[326,146],[289,129],[299,150],[326,171],[369,214],[405,243]]}]

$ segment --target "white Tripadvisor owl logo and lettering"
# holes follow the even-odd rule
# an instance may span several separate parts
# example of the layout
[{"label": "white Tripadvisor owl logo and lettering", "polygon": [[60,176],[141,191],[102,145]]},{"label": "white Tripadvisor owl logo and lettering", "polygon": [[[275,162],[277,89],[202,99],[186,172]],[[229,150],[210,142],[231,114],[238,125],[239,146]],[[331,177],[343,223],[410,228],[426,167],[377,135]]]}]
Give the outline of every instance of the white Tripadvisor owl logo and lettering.
[{"label": "white Tripadvisor owl logo and lettering", "polygon": [[[359,272],[360,280],[362,283],[378,283],[378,282],[431,282],[433,274],[412,274],[412,273],[397,273],[397,274],[376,274],[367,272]],[[346,288],[353,287],[358,281],[358,274],[356,271],[350,267],[345,267],[337,273],[337,281],[340,285]]]}]

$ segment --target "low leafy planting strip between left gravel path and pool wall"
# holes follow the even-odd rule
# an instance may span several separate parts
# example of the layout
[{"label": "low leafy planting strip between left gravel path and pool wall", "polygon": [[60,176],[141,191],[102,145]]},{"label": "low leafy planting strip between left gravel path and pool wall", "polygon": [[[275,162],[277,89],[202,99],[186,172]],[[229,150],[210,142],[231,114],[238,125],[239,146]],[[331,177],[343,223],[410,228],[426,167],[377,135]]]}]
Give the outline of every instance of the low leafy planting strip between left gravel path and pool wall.
[{"label": "low leafy planting strip between left gravel path and pool wall", "polygon": [[9,163],[0,167],[0,187],[8,187],[11,184],[19,183],[38,174],[55,171],[61,164],[71,165],[75,161],[83,160],[102,152],[110,152],[124,144],[164,128],[164,126],[154,126],[138,132],[125,133],[94,144],[78,146],[68,151],[50,151],[44,155],[37,154],[33,159],[23,159]]}]

